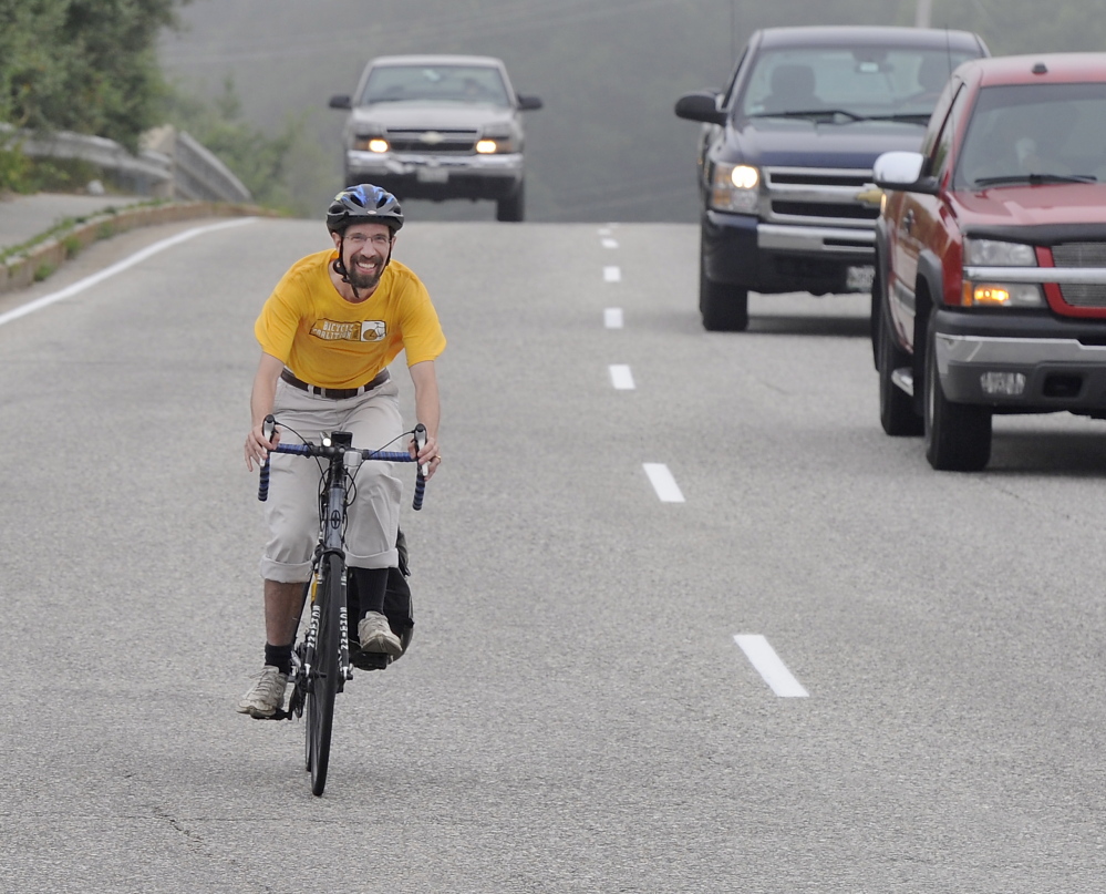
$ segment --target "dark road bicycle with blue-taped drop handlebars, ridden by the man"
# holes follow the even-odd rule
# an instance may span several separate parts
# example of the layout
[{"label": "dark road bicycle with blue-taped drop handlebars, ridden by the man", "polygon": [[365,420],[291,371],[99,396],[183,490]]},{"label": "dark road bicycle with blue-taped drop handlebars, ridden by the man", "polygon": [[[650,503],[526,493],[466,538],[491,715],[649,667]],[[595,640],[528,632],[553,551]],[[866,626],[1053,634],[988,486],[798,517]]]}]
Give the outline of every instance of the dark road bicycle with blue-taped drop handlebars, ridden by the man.
[{"label": "dark road bicycle with blue-taped drop handlebars, ridden by the man", "polygon": [[[272,440],[276,425],[277,420],[271,414],[265,418],[262,432],[266,440]],[[407,434],[414,435],[416,450],[422,450],[426,443],[425,427],[420,423]],[[311,772],[311,792],[318,797],[327,785],[334,698],[344,691],[347,681],[353,679],[344,548],[350,485],[365,461],[415,462],[415,458],[399,451],[358,450],[353,446],[353,434],[345,431],[331,432],[330,438],[323,438],[321,444],[279,443],[272,452],[327,461],[319,494],[319,540],[311,561],[311,578],[304,593],[304,602],[310,596],[310,620],[302,639],[292,649],[292,691],[288,708],[273,715],[273,719],[281,720],[298,719],[307,713],[304,769]],[[421,463],[412,501],[412,508],[416,511],[422,508],[426,472],[426,464]],[[263,502],[268,495],[269,462],[266,460],[261,463],[257,499]],[[403,645],[406,648],[406,641]],[[390,656],[376,652],[362,652],[360,658],[364,664],[359,667],[364,669],[383,669],[391,660]]]}]

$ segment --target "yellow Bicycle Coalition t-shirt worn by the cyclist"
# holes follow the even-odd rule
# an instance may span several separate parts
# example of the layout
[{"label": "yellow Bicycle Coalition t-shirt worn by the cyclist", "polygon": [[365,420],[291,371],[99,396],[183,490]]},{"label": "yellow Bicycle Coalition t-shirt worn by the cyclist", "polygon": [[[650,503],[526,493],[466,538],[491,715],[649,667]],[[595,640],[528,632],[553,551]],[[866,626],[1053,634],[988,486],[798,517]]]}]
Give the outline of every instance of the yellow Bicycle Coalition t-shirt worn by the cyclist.
[{"label": "yellow Bicycle Coalition t-shirt worn by the cyclist", "polygon": [[321,388],[359,388],[401,350],[409,367],[442,353],[445,336],[417,276],[392,260],[376,290],[354,305],[330,279],[337,257],[318,251],[285,274],[254,325],[261,350]]}]

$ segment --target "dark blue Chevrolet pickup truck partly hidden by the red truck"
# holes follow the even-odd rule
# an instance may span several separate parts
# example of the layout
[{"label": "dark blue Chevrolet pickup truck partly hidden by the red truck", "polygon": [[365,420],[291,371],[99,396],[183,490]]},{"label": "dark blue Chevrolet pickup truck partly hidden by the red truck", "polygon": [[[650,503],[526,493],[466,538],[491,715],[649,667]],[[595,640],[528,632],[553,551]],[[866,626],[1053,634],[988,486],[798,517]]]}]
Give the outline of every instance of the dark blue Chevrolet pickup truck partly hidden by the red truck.
[{"label": "dark blue Chevrolet pickup truck partly hidden by the red truck", "polygon": [[699,309],[709,330],[748,326],[748,292],[870,291],[881,193],[872,164],[917,151],[961,62],[965,31],[769,28],[721,93],[682,96],[702,122]]}]

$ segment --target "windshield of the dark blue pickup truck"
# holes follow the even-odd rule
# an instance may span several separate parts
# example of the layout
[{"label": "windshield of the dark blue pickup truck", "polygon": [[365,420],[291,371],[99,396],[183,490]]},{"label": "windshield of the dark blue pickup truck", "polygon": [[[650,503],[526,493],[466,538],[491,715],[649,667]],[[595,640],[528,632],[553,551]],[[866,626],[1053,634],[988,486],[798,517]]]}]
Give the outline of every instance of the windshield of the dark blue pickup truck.
[{"label": "windshield of the dark blue pickup truck", "polygon": [[[803,47],[762,53],[744,84],[737,116],[848,123],[870,119],[924,124],[949,74],[974,55],[941,49]],[[819,114],[820,113],[820,114]]]}]

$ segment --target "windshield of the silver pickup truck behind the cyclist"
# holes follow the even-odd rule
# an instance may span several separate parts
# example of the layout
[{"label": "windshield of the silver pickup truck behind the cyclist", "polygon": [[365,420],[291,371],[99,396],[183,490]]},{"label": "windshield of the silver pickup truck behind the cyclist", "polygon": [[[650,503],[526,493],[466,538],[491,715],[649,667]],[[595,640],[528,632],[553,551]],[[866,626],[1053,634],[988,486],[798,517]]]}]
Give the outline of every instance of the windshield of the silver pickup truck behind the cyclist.
[{"label": "windshield of the silver pickup truck behind the cyclist", "polygon": [[498,69],[487,65],[382,65],[369,73],[361,104],[458,102],[509,106]]}]

